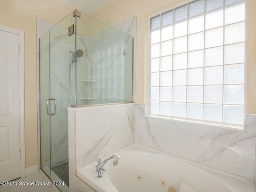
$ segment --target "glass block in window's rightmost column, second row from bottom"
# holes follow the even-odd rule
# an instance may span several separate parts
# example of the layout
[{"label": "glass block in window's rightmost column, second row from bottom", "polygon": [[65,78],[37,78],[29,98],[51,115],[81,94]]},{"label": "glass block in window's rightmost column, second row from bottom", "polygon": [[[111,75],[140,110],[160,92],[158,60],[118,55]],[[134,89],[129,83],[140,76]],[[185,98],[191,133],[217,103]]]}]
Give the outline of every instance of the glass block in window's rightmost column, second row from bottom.
[{"label": "glass block in window's rightmost column, second row from bottom", "polygon": [[244,85],[224,85],[224,104],[244,104]]}]

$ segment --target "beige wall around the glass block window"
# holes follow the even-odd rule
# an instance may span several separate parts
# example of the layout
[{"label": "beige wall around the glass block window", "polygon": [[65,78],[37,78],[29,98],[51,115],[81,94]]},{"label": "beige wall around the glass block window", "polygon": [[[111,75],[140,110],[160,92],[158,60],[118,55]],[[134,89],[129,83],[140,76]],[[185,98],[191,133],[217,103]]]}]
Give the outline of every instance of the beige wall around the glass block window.
[{"label": "beige wall around the glass block window", "polygon": [[[136,103],[147,104],[148,17],[188,1],[184,0],[118,0],[94,17],[118,24],[137,16]],[[248,0],[248,104],[247,112],[256,114],[256,0]]]}]

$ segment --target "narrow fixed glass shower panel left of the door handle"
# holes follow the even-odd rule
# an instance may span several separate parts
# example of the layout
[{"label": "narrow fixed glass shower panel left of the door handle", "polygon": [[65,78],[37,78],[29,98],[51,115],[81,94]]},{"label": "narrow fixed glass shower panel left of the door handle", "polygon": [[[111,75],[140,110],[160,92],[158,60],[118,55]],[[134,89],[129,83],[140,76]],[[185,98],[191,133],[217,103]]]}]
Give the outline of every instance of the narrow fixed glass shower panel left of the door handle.
[{"label": "narrow fixed glass shower panel left of the door handle", "polygon": [[41,169],[51,177],[51,154],[50,154],[50,117],[46,113],[46,100],[50,98],[49,67],[50,46],[49,31],[42,36],[40,41],[40,153]]}]

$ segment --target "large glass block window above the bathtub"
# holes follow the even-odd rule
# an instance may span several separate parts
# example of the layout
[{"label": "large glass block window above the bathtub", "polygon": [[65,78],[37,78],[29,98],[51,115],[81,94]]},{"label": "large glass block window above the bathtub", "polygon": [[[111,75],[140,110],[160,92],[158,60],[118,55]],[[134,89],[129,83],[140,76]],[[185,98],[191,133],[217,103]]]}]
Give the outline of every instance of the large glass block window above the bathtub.
[{"label": "large glass block window above the bathtub", "polygon": [[245,2],[194,0],[150,18],[149,113],[243,124]]}]

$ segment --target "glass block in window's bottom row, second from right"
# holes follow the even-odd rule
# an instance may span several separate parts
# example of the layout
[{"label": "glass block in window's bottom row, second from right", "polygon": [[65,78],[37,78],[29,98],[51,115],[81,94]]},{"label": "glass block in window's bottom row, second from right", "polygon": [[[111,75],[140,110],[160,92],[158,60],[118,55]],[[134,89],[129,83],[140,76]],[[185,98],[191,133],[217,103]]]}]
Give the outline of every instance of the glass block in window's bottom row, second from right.
[{"label": "glass block in window's bottom row, second from right", "polygon": [[222,122],[222,105],[204,104],[204,120]]}]

